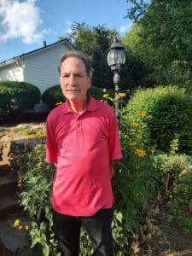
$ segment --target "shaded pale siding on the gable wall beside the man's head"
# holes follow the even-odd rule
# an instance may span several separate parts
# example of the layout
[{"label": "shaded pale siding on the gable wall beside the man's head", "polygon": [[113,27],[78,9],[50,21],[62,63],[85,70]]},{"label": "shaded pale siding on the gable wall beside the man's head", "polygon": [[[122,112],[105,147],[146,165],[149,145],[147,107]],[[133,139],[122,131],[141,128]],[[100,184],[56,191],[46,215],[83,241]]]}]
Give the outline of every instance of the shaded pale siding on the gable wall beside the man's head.
[{"label": "shaded pale siding on the gable wall beside the man's head", "polygon": [[55,45],[55,47],[44,49],[24,58],[24,79],[27,83],[38,86],[41,93],[49,87],[59,84],[57,71],[61,55],[69,48],[66,44]]}]

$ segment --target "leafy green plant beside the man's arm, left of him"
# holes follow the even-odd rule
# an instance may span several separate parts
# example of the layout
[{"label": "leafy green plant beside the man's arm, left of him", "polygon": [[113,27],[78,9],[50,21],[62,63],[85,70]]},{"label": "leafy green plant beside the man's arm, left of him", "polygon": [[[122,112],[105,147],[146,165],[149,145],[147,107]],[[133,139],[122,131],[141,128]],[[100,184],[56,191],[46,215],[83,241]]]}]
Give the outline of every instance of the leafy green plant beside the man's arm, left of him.
[{"label": "leafy green plant beside the man's arm, left of him", "polygon": [[52,227],[52,212],[50,195],[55,167],[44,161],[44,145],[37,145],[26,155],[24,166],[26,170],[23,179],[23,189],[20,192],[20,205],[32,220],[30,236],[32,247],[40,244],[44,256],[55,256],[57,244]]}]

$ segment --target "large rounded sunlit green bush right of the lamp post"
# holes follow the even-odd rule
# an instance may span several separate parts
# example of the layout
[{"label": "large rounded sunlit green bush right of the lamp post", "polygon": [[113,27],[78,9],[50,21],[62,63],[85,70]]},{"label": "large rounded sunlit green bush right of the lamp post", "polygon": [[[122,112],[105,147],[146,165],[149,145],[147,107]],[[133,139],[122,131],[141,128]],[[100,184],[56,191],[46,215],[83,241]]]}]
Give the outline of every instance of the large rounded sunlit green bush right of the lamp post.
[{"label": "large rounded sunlit green bush right of the lamp post", "polygon": [[127,105],[127,118],[137,122],[138,111],[148,130],[148,145],[168,153],[172,142],[178,140],[178,153],[192,154],[192,97],[177,86],[137,90]]}]

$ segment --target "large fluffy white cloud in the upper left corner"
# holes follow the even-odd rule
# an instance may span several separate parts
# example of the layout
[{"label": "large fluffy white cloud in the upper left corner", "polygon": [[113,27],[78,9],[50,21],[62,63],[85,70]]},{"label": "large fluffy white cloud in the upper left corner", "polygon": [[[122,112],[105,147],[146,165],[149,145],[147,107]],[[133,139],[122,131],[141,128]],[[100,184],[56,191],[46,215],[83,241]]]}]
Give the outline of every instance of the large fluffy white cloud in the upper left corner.
[{"label": "large fluffy white cloud in the upper left corner", "polygon": [[0,41],[21,38],[25,44],[38,42],[47,30],[38,31],[41,10],[36,0],[0,0]]}]

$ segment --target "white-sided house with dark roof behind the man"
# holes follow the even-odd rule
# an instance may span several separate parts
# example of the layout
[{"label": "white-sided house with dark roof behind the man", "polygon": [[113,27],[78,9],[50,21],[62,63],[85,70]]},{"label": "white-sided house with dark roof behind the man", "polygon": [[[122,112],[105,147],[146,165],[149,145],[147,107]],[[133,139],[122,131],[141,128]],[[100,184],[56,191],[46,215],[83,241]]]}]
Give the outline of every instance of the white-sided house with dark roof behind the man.
[{"label": "white-sided house with dark roof behind the man", "polygon": [[[58,63],[62,54],[73,46],[62,40],[55,44],[32,50],[26,54],[0,63],[0,81],[20,81],[33,84],[41,94],[49,87],[59,84]],[[40,107],[41,106],[41,107]],[[41,102],[39,107],[43,109]]]}]

